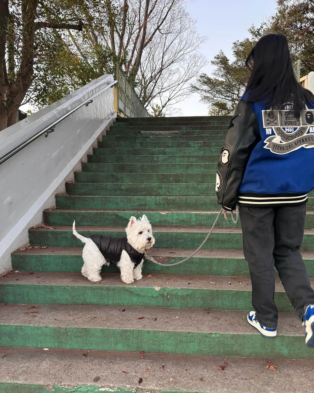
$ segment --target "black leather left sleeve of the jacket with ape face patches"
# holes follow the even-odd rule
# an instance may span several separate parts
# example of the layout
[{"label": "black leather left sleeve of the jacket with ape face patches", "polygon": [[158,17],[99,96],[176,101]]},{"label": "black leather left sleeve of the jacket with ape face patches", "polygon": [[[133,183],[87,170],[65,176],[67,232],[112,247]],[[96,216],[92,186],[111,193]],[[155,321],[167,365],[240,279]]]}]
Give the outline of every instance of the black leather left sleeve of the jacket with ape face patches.
[{"label": "black leather left sleeve of the jacket with ape face patches", "polygon": [[256,116],[249,104],[240,100],[221,149],[216,176],[218,203],[227,210],[235,209],[248,159],[260,140]]}]

